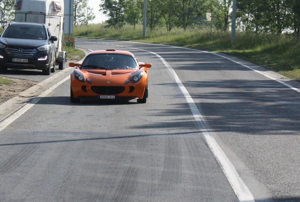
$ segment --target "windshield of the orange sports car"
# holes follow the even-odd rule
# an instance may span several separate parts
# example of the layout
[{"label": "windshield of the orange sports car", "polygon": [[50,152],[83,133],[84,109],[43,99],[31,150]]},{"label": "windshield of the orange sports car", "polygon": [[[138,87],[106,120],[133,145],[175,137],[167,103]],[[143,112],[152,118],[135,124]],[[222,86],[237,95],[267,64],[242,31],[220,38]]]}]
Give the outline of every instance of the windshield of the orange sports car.
[{"label": "windshield of the orange sports car", "polygon": [[81,69],[137,70],[138,64],[129,55],[98,54],[87,56],[81,65]]}]

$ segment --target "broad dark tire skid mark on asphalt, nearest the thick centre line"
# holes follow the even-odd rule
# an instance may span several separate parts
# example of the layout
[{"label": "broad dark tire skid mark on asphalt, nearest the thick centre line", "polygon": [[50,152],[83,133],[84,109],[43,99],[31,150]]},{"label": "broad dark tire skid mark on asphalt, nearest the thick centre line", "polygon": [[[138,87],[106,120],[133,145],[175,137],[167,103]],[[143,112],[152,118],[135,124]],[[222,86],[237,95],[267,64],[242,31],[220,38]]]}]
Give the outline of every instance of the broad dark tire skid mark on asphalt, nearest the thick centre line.
[{"label": "broad dark tire skid mark on asphalt, nearest the thick centre line", "polygon": [[166,139],[164,170],[161,173],[159,183],[161,191],[174,192],[175,185],[181,182],[182,175],[182,158],[180,150],[180,139],[170,136]]}]

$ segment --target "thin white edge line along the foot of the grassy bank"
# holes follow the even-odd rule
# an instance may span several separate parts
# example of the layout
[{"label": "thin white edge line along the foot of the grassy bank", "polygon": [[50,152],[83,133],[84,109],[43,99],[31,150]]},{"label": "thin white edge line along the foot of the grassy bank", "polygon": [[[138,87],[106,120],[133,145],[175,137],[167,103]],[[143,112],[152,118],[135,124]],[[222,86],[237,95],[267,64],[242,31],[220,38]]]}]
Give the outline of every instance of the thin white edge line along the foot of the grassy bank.
[{"label": "thin white edge line along the foot of the grassy bank", "polygon": [[[93,40],[105,40],[105,39],[93,39]],[[116,41],[116,40],[105,40],[105,41],[118,42],[118,41]],[[261,75],[263,75],[263,76],[265,76],[265,77],[268,77],[269,79],[272,79],[272,80],[274,80],[274,81],[277,81],[278,83],[280,83],[280,84],[282,84],[282,85],[285,85],[286,87],[288,87],[288,88],[290,88],[290,89],[292,89],[292,90],[297,91],[298,93],[300,93],[300,90],[299,90],[298,88],[295,88],[294,86],[289,85],[289,84],[286,83],[286,82],[283,82],[283,81],[281,81],[281,80],[279,80],[279,79],[276,79],[276,78],[274,78],[274,77],[272,77],[272,76],[267,75],[266,73],[264,73],[264,72],[262,72],[262,71],[255,70],[255,69],[253,69],[252,67],[249,67],[249,66],[247,66],[247,65],[245,65],[245,64],[243,64],[243,63],[241,63],[241,62],[235,61],[235,60],[233,60],[233,59],[231,59],[231,58],[228,58],[228,57],[223,56],[223,55],[219,55],[219,54],[214,53],[214,52],[203,51],[203,50],[197,50],[197,49],[186,48],[186,47],[180,47],[180,46],[170,46],[170,45],[154,44],[154,43],[143,43],[143,42],[133,42],[133,41],[119,41],[119,42],[141,43],[141,44],[149,44],[149,45],[155,45],[155,46],[167,46],[167,47],[171,47],[171,48],[180,48],[180,49],[192,50],[192,51],[197,51],[197,52],[210,53],[210,54],[213,54],[213,55],[217,55],[217,56],[219,56],[219,57],[221,57],[221,58],[225,58],[225,59],[227,59],[227,60],[229,60],[229,61],[232,61],[232,62],[234,62],[234,63],[236,63],[236,64],[239,64],[239,65],[241,65],[241,66],[243,66],[243,67],[246,67],[246,68],[248,68],[248,69],[250,69],[250,70],[253,70],[253,71],[255,71],[256,73],[259,73],[259,74],[261,74]]]}]

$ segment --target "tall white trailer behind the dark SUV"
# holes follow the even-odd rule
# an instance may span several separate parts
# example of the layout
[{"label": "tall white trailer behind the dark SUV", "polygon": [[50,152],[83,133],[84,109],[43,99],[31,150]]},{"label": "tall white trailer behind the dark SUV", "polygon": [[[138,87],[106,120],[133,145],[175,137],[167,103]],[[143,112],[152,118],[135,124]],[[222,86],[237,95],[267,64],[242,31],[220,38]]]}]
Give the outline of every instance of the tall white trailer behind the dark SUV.
[{"label": "tall white trailer behind the dark SUV", "polygon": [[60,70],[64,69],[67,54],[63,51],[64,43],[64,0],[16,0],[15,22],[35,22],[45,24],[55,42],[55,61]]}]

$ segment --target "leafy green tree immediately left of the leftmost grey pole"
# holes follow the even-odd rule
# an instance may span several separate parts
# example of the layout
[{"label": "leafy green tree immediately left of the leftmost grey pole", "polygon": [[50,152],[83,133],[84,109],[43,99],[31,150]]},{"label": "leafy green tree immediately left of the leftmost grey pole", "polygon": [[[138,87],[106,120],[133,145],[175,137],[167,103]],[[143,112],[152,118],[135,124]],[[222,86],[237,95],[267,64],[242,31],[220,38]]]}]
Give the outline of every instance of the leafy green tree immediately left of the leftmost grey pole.
[{"label": "leafy green tree immediately left of the leftmost grey pole", "polygon": [[142,20],[143,0],[128,0],[125,6],[125,21],[137,25]]}]

